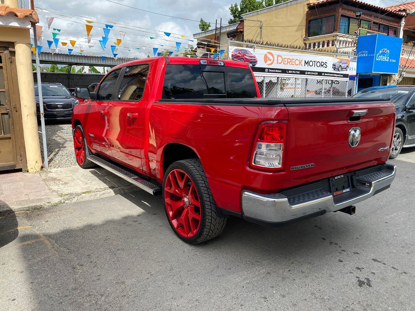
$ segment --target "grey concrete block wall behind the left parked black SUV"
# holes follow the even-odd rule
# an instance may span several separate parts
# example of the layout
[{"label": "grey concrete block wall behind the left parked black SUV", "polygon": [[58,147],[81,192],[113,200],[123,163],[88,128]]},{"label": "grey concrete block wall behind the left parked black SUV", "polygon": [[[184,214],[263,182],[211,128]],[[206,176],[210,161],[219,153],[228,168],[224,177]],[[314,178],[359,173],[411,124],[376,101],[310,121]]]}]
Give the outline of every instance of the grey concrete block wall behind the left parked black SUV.
[{"label": "grey concrete block wall behind the left parked black SUV", "polygon": [[[100,82],[104,75],[95,73],[68,73],[41,72],[40,78],[42,83],[62,83],[68,88],[78,86],[88,86],[95,82]],[[37,83],[37,74],[33,73],[34,83]]]}]

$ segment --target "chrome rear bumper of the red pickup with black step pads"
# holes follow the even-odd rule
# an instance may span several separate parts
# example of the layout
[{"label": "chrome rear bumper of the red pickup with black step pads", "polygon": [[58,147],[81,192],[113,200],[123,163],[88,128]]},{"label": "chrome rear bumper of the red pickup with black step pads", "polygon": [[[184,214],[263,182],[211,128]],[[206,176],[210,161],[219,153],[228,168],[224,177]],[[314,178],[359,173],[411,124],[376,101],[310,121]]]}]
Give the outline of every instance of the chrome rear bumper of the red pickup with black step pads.
[{"label": "chrome rear bumper of the red pickup with black step pads", "polygon": [[249,221],[278,226],[296,219],[338,211],[369,199],[376,193],[390,187],[395,178],[396,166],[385,163],[362,171],[365,172],[365,175],[356,178],[356,186],[347,193],[344,201],[339,201],[340,196],[335,199],[332,193],[322,188],[298,193],[292,197],[287,197],[282,193],[260,194],[243,191],[243,216]]}]

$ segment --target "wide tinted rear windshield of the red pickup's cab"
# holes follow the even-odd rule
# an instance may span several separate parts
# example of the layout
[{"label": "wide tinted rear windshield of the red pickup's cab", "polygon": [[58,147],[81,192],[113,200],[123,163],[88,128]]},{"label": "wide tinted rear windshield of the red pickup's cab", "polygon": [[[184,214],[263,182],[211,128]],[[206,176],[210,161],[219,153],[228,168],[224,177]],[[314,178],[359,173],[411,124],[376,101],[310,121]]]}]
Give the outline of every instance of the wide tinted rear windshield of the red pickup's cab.
[{"label": "wide tinted rear windshield of the red pickup's cab", "polygon": [[256,97],[251,70],[225,66],[167,65],[165,99]]}]

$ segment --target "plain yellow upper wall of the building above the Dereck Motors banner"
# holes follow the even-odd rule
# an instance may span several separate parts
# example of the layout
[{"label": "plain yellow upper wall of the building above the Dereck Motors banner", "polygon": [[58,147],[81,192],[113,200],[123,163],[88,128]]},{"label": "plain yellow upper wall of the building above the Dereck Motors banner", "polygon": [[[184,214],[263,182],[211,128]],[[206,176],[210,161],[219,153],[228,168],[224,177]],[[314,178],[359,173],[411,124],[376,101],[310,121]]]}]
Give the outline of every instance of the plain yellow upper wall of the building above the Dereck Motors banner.
[{"label": "plain yellow upper wall of the building above the Dereck Motors banner", "polygon": [[302,1],[244,18],[244,40],[260,39],[260,23],[247,20],[253,19],[262,21],[264,42],[303,46],[307,5],[311,2],[313,1]]}]

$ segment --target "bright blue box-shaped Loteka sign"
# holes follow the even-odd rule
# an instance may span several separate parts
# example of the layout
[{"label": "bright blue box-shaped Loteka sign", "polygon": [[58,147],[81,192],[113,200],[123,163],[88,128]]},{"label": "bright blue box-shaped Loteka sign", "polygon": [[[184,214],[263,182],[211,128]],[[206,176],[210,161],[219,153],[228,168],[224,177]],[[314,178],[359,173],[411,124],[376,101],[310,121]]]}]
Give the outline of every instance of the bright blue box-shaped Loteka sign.
[{"label": "bright blue box-shaped Loteka sign", "polygon": [[402,39],[383,34],[359,36],[357,73],[398,73]]}]

